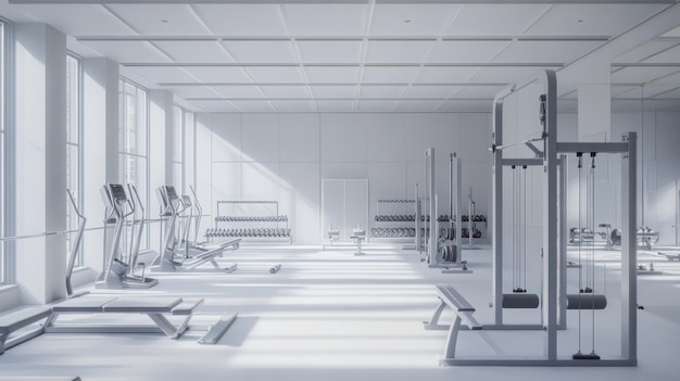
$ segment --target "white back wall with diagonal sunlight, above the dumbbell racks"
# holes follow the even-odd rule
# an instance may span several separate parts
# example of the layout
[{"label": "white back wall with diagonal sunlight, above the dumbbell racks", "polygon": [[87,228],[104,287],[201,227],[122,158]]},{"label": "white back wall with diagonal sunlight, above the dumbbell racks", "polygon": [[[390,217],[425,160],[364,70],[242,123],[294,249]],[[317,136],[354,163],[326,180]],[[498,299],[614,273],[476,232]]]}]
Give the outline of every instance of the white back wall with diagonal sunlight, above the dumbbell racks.
[{"label": "white back wall with diagonal sunlight, above the dumbbell racks", "polygon": [[368,179],[373,219],[378,199],[414,196],[425,150],[435,147],[440,213],[449,209],[449,153],[457,152],[464,194],[473,186],[476,213],[488,215],[490,120],[484,113],[199,114],[199,198],[210,200],[213,217],[217,200],[277,200],[294,241],[318,243],[322,179]]}]

